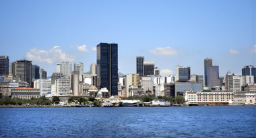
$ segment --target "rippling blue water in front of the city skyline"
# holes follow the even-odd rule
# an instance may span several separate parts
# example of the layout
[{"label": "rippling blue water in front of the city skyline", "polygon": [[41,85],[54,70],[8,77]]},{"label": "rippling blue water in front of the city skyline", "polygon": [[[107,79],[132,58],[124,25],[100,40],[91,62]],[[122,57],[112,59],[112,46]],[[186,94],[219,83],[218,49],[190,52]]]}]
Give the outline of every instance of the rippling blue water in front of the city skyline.
[{"label": "rippling blue water in front of the city skyline", "polygon": [[0,108],[0,137],[256,137],[256,106]]}]

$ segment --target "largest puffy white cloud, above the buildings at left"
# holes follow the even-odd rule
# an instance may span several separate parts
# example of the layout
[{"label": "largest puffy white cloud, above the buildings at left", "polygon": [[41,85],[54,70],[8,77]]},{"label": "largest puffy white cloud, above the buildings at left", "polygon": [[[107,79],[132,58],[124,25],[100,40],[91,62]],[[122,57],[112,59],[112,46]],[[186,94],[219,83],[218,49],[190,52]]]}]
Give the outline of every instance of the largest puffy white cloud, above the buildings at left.
[{"label": "largest puffy white cloud, above the buildings at left", "polygon": [[48,64],[59,63],[60,61],[75,61],[75,56],[63,53],[59,46],[54,46],[50,50],[32,48],[26,53],[26,58]]}]

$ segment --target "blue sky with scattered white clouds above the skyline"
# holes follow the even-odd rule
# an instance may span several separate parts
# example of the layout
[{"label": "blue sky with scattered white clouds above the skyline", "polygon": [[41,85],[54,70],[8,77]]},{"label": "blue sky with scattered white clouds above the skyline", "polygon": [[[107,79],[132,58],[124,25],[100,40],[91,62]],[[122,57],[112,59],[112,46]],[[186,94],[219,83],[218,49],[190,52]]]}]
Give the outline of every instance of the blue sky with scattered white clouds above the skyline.
[{"label": "blue sky with scattered white clouds above the skyline", "polygon": [[136,73],[136,56],[160,75],[175,66],[203,75],[213,59],[220,76],[256,67],[256,1],[0,1],[0,55],[28,59],[48,76],[56,63],[96,63],[96,45],[119,46],[119,71]]}]

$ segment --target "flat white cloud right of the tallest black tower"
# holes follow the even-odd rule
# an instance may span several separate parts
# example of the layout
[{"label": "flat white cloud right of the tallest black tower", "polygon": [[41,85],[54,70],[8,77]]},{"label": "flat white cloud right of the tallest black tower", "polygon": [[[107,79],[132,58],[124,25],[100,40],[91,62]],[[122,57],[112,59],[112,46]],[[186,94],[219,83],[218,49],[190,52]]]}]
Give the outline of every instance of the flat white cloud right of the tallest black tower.
[{"label": "flat white cloud right of the tallest black tower", "polygon": [[150,53],[156,54],[156,55],[170,55],[170,56],[179,54],[177,50],[175,50],[174,48],[171,48],[169,46],[163,47],[163,48],[158,47],[154,50],[150,50]]}]

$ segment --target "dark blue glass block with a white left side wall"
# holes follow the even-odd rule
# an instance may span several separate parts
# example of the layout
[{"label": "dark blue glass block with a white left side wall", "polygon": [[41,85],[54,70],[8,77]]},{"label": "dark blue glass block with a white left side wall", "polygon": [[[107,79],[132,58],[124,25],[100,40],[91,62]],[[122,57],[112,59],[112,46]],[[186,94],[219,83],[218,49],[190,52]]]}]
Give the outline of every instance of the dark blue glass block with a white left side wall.
[{"label": "dark blue glass block with a white left side wall", "polygon": [[190,79],[190,67],[176,66],[175,81],[189,81]]}]

